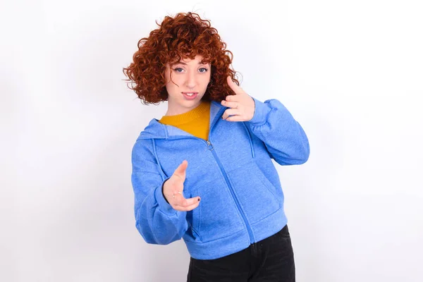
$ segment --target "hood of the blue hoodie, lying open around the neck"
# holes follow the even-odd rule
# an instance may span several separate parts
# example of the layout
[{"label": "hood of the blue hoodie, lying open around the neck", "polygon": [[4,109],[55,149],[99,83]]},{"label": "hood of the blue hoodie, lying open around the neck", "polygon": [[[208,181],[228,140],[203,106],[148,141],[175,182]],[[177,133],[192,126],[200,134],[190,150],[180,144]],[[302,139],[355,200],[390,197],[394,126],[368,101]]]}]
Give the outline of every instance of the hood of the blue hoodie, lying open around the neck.
[{"label": "hood of the blue hoodie, lying open around the neck", "polygon": [[[210,129],[216,118],[219,118],[226,106],[222,106],[219,102],[212,101],[210,104]],[[159,123],[157,118],[153,118],[137,139],[171,139],[178,136],[191,136],[190,133],[181,130],[173,125]]]}]

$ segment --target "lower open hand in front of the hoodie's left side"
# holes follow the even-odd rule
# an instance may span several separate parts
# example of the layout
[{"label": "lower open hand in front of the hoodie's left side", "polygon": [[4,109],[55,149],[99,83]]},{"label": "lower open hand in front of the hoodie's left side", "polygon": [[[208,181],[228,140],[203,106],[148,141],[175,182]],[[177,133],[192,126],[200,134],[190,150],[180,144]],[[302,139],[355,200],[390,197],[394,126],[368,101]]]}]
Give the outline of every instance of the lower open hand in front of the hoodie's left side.
[{"label": "lower open hand in front of the hoodie's left side", "polygon": [[171,178],[166,180],[163,185],[163,195],[166,201],[177,211],[187,212],[198,207],[200,197],[185,199],[183,197],[183,183],[185,182],[186,169],[188,161],[184,160],[176,168]]}]

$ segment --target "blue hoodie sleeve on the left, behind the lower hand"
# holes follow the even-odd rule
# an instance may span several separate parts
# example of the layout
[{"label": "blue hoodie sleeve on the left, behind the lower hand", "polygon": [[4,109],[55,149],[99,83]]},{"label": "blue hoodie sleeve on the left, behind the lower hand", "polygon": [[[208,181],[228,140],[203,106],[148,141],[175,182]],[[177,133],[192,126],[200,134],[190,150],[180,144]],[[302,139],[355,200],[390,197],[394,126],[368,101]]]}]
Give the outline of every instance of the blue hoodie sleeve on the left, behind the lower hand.
[{"label": "blue hoodie sleeve on the left, behind the lower hand", "polygon": [[177,211],[166,202],[162,185],[170,177],[161,175],[153,154],[140,143],[135,142],[132,152],[135,225],[145,242],[167,245],[187,231],[186,212]]}]

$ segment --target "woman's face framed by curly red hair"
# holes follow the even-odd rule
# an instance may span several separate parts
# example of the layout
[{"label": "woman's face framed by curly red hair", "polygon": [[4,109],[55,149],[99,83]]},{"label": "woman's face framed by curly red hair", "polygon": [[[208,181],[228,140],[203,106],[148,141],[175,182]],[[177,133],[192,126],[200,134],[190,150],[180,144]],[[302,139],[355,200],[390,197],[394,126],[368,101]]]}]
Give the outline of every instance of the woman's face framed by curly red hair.
[{"label": "woman's face framed by curly red hair", "polygon": [[210,64],[201,63],[202,59],[202,56],[197,55],[193,60],[187,58],[172,66],[166,64],[164,73],[168,92],[166,116],[184,114],[200,106],[211,73]]}]

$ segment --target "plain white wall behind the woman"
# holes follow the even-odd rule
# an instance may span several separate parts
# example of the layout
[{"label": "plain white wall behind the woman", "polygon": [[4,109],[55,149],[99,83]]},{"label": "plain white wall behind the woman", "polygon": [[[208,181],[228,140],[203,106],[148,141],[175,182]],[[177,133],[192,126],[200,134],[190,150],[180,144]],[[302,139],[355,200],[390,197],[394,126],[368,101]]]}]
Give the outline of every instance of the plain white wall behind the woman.
[{"label": "plain white wall behind the woman", "polygon": [[166,103],[122,68],[195,11],[242,87],[276,98],[311,155],[276,164],[298,281],[423,281],[420,1],[1,2],[1,281],[185,281],[183,241],[135,228],[130,152]]}]

